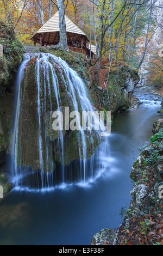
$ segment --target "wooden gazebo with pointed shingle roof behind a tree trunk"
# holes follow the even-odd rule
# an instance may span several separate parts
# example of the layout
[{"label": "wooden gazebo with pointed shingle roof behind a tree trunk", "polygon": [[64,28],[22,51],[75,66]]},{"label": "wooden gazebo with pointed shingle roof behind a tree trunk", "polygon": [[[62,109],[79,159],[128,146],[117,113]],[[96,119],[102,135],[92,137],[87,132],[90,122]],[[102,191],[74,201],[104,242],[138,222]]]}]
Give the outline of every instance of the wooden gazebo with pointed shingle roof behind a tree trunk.
[{"label": "wooden gazebo with pointed shingle roof behind a tree trunk", "polygon": [[[65,15],[67,44],[71,51],[82,52],[90,56],[89,38],[86,34],[77,27]],[[59,43],[59,13],[57,12],[39,31],[37,31],[31,38],[34,45],[40,44],[41,46],[57,45]],[[95,55],[95,51],[91,50],[91,57]]]}]

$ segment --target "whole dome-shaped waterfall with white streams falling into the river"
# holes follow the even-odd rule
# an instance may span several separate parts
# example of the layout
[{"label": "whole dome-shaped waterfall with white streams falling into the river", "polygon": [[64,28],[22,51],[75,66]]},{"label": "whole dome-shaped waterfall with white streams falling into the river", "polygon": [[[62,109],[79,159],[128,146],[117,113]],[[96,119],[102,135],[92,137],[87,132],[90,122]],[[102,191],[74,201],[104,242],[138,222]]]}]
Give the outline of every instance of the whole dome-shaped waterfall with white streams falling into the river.
[{"label": "whole dome-shaped waterfall with white streams falling into the river", "polygon": [[80,124],[76,131],[52,130],[54,111],[64,113],[65,106],[74,113],[93,112],[86,86],[77,72],[53,54],[24,54],[16,84],[11,153],[15,185],[52,188],[85,183],[99,175],[104,142],[98,129],[83,130],[76,115]]}]

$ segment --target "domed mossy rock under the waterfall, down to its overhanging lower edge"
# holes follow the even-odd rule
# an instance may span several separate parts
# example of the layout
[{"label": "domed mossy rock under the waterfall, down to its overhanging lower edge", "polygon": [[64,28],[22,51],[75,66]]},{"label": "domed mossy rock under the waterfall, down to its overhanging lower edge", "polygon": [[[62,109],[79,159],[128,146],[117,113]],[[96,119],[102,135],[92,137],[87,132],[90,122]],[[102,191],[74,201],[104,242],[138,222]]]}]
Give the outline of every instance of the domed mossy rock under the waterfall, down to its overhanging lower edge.
[{"label": "domed mossy rock under the waterfall, down to its overhanging lower edge", "polygon": [[[17,165],[52,172],[57,164],[89,159],[101,143],[99,132],[53,130],[52,115],[90,111],[83,81],[60,58],[49,53],[27,54],[21,74],[14,156]],[[63,127],[64,128],[64,127]],[[89,149],[89,150],[87,150]]]}]

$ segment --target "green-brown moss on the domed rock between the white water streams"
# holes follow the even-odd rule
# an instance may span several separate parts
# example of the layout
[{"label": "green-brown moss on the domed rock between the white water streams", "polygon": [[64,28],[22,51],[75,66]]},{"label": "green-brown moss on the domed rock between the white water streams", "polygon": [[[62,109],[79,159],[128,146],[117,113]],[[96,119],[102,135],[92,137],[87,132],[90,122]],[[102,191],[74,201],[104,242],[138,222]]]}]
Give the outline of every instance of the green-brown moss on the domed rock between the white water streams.
[{"label": "green-brown moss on the domed rock between the white water streams", "polygon": [[[46,52],[45,49],[41,50]],[[81,64],[83,56],[73,57],[72,53],[63,53],[62,51],[54,51],[55,55],[63,54],[65,59],[69,59],[69,62]],[[51,52],[53,54],[53,51]],[[62,57],[62,55],[61,55]],[[24,77],[21,84],[21,111],[20,119],[18,122],[18,145],[17,145],[17,164],[18,166],[31,166],[33,169],[42,167],[44,172],[51,172],[57,162],[62,163],[62,145],[58,139],[61,133],[54,131],[52,124],[52,114],[58,110],[58,103],[56,95],[54,93],[52,73],[49,69],[49,83],[45,88],[45,81],[43,76],[43,69],[40,65],[40,108],[41,110],[41,130],[39,130],[39,119],[37,115],[37,82],[35,76],[35,66],[37,57],[33,57],[29,60],[26,69],[24,70]],[[67,77],[64,78],[61,75],[61,67],[59,64],[52,63],[55,69],[55,75],[57,76],[58,89],[59,89],[59,106],[62,111],[63,117],[65,107],[69,107],[69,111],[74,111],[72,95],[69,90],[69,84]],[[84,66],[82,68],[84,70]],[[84,71],[83,71],[84,72]],[[64,74],[64,72],[62,72]],[[84,76],[84,73],[82,73]],[[76,93],[76,95],[78,95]],[[78,102],[78,109],[82,116],[82,107],[80,106],[80,100],[76,97]],[[39,145],[39,135],[41,133],[41,149]],[[69,164],[74,159],[79,159],[80,155],[83,157],[83,142],[80,132],[78,131],[62,131],[64,136],[64,165]],[[90,158],[95,152],[95,149],[101,143],[96,134],[85,131],[87,155],[86,158]],[[91,143],[91,137],[94,139],[94,143]],[[40,153],[42,154],[42,166],[40,163]]]}]

